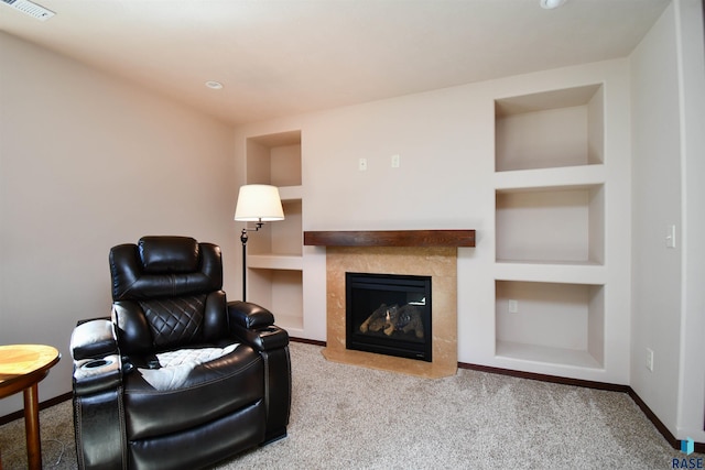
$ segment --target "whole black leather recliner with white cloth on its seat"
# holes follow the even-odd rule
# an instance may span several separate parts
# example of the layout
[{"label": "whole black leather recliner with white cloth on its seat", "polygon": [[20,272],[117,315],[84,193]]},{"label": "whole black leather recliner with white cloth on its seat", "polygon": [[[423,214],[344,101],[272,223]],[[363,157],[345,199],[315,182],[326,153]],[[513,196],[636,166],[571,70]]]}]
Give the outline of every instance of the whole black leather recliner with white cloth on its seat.
[{"label": "whole black leather recliner with white cloth on its seat", "polygon": [[111,319],[72,335],[79,468],[203,468],[286,435],[289,336],[226,302],[218,247],[143,237],[110,272]]}]

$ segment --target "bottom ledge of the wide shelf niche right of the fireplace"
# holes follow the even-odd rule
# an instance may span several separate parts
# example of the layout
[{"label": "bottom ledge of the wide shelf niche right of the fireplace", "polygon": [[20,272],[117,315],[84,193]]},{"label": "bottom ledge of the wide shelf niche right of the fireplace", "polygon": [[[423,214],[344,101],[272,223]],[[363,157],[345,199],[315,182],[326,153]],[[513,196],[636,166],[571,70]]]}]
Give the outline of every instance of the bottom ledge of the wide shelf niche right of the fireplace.
[{"label": "bottom ledge of the wide shelf niche right of the fireplace", "polygon": [[541,362],[552,365],[568,365],[586,369],[604,369],[589,352],[585,350],[552,348],[540,345],[522,345],[510,341],[497,341],[495,356],[529,362]]}]

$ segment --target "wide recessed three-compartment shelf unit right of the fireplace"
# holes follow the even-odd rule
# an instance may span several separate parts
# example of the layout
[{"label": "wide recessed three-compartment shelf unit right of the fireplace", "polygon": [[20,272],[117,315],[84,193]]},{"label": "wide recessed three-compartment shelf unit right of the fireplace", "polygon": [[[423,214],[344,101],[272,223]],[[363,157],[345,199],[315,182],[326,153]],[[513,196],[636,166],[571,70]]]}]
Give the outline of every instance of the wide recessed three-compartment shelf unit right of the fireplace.
[{"label": "wide recessed three-compartment shelf unit right of the fireplace", "polygon": [[495,356],[601,369],[603,86],[498,99],[495,114]]}]

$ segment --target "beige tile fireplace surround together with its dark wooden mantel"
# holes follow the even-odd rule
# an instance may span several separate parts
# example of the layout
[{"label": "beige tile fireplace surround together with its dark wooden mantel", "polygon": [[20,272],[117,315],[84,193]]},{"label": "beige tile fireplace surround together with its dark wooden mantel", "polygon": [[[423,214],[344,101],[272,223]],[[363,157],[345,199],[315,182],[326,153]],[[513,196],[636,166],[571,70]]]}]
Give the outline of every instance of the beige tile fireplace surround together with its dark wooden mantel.
[{"label": "beige tile fireplace surround together with its dark wooden mantel", "polygon": [[[336,362],[430,379],[457,371],[457,247],[474,247],[474,230],[304,232],[326,247],[326,348]],[[345,273],[431,276],[432,362],[346,349]]]}]

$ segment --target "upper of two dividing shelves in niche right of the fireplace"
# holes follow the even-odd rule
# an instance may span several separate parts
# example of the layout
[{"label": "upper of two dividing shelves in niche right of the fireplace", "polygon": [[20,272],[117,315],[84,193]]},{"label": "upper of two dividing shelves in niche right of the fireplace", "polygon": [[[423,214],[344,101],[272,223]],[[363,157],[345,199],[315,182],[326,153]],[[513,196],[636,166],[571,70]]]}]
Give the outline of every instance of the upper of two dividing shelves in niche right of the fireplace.
[{"label": "upper of two dividing shelves in niche right of the fireplace", "polygon": [[507,193],[544,188],[575,189],[604,183],[605,165],[601,164],[495,173],[495,188]]}]

